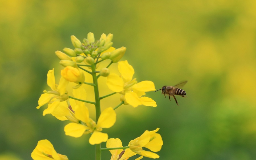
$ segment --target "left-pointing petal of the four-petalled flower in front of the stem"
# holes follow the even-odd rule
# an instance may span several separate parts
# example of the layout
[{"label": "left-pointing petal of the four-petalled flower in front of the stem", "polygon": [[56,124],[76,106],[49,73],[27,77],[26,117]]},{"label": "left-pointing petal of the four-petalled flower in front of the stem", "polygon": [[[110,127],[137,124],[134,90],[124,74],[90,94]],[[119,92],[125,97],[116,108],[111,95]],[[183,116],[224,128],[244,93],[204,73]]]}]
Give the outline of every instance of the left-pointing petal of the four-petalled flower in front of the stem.
[{"label": "left-pointing petal of the four-petalled flower in front of the stem", "polygon": [[66,135],[76,138],[81,137],[86,129],[88,129],[88,127],[77,123],[69,123],[64,127]]}]

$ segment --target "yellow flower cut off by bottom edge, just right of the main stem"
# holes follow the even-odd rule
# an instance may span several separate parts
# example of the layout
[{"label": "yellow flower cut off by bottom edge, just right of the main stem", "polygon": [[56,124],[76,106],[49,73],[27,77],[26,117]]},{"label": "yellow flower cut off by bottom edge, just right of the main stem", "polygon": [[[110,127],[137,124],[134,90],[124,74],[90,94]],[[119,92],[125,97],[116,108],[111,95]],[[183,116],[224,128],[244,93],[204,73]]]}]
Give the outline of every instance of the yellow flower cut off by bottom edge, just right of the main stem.
[{"label": "yellow flower cut off by bottom edge, just right of the main stem", "polygon": [[[110,138],[107,141],[106,144],[107,148],[117,148],[117,147],[123,147],[122,142],[118,138]],[[109,152],[112,154],[110,160],[127,160],[133,155],[136,155],[135,152],[132,152],[129,148],[123,150],[123,149],[118,149],[118,150],[109,150]],[[139,160],[142,159],[143,156],[135,159]]]}]

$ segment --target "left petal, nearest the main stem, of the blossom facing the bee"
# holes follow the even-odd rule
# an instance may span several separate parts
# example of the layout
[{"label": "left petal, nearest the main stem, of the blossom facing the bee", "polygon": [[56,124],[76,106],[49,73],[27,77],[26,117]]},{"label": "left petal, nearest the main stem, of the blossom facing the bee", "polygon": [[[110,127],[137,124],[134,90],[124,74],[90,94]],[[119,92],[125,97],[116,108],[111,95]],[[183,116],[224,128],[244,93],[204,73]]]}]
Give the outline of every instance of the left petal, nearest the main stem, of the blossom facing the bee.
[{"label": "left petal, nearest the main stem, of the blossom facing the bee", "polygon": [[111,73],[107,77],[107,86],[113,92],[121,92],[124,89],[124,82],[123,79],[119,77],[117,74]]}]

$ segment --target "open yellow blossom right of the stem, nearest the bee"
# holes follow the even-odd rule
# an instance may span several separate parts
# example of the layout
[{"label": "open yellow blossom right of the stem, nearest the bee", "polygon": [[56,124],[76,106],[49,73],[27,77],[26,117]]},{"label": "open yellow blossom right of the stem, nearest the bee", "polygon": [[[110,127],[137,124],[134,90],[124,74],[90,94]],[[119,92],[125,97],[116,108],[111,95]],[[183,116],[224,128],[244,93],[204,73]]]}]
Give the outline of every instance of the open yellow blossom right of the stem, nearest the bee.
[{"label": "open yellow blossom right of the stem, nearest the bee", "polygon": [[122,94],[121,101],[133,107],[138,105],[157,106],[151,98],[141,97],[145,95],[145,92],[156,90],[152,81],[137,83],[136,78],[133,79],[134,69],[127,60],[118,62],[118,70],[121,76],[111,73],[107,77],[107,85],[113,92]]}]

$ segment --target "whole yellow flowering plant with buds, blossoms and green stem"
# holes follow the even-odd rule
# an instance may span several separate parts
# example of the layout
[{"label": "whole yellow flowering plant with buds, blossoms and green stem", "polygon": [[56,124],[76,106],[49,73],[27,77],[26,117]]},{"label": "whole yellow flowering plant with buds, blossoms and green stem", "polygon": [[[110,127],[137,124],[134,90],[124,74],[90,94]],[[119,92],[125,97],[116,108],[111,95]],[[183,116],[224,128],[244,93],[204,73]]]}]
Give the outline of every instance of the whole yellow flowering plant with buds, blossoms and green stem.
[{"label": "whole yellow flowering plant with buds, blossoms and green stem", "polygon": [[[145,131],[140,137],[131,140],[126,147],[122,146],[120,139],[108,138],[104,133],[104,128],[112,127],[116,122],[117,109],[122,104],[137,107],[139,105],[156,107],[156,102],[149,97],[144,96],[149,91],[154,91],[155,86],[152,81],[137,82],[133,77],[134,69],[127,60],[120,61],[126,52],[126,47],[115,49],[112,47],[113,34],[102,34],[99,40],[95,40],[93,33],[88,33],[87,38],[81,42],[75,36],[71,36],[71,42],[74,46],[64,48],[62,51],[56,51],[56,56],[60,59],[59,64],[64,68],[60,71],[59,84],[55,83],[54,68],[48,71],[47,85],[51,90],[44,90],[38,100],[37,109],[47,104],[43,115],[51,114],[58,120],[69,120],[70,123],[64,127],[66,135],[71,137],[81,137],[84,134],[90,134],[89,143],[95,145],[95,159],[100,159],[103,150],[110,150],[111,159],[123,160],[133,155],[141,155],[150,158],[159,158],[156,153],[163,144],[162,137],[154,131]],[[109,62],[106,67],[101,69],[101,62]],[[109,70],[110,65],[118,63],[119,75]],[[92,76],[93,83],[89,83],[85,74]],[[106,77],[106,86],[113,92],[100,97],[98,88],[98,78]],[[72,86],[70,92],[68,86]],[[86,100],[86,90],[84,85],[90,85],[94,90],[94,101]],[[69,92],[72,94],[69,94]],[[121,103],[116,107],[108,107],[101,111],[100,101],[103,98],[119,93]],[[95,105],[96,118],[90,117],[86,104]],[[106,142],[107,148],[101,148],[100,144]],[[118,149],[116,149],[118,148]],[[145,151],[148,148],[150,151]],[[125,149],[125,150],[124,150]],[[33,159],[67,159],[67,156],[58,154],[48,140],[40,140],[31,154]]]}]

